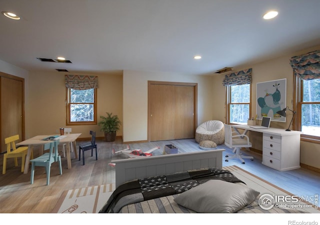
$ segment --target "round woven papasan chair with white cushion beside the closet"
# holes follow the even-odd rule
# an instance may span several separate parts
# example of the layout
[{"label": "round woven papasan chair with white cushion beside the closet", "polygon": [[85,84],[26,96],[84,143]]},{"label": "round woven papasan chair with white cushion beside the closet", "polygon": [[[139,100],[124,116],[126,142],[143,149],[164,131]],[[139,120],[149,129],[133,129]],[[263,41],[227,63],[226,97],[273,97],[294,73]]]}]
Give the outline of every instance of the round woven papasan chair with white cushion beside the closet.
[{"label": "round woven papasan chair with white cushion beside the closet", "polygon": [[211,140],[217,145],[224,143],[224,124],[219,120],[208,120],[195,129],[195,141]]}]

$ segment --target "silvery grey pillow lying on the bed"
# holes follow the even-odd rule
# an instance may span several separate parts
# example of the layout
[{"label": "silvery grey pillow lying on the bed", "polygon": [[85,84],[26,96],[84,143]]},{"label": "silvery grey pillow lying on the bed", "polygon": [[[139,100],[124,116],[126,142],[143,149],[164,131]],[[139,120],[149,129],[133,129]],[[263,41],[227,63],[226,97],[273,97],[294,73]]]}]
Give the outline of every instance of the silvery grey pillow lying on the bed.
[{"label": "silvery grey pillow lying on the bed", "polygon": [[210,179],[178,194],[174,201],[196,212],[236,212],[250,204],[258,191],[219,179]]}]

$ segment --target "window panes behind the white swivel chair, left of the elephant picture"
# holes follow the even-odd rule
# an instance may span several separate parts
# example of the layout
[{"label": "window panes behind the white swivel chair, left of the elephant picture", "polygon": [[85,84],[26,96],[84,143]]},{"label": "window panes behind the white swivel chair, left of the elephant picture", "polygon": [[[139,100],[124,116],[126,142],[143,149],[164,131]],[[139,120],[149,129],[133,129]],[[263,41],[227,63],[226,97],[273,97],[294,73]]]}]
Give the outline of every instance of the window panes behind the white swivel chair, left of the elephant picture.
[{"label": "window panes behind the white swivel chair, left of the elephant picture", "polygon": [[251,84],[227,86],[227,122],[247,123],[250,117]]}]

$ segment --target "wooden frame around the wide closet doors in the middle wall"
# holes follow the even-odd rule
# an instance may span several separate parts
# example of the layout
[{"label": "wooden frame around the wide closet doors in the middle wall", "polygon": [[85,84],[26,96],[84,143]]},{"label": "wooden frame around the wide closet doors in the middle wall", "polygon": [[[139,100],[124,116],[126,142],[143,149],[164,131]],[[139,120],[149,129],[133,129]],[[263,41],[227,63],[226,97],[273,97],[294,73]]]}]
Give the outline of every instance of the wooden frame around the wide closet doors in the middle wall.
[{"label": "wooden frame around the wide closet doors in the middle wall", "polygon": [[150,104],[150,86],[152,84],[158,84],[158,85],[173,85],[173,86],[193,86],[194,87],[194,96],[193,96],[193,111],[194,111],[194,132],[197,126],[197,102],[198,102],[198,98],[197,98],[197,93],[198,93],[198,84],[197,83],[189,83],[189,82],[169,82],[169,81],[156,81],[156,80],[148,80],[148,117],[147,117],[147,141],[151,140],[151,104]]}]

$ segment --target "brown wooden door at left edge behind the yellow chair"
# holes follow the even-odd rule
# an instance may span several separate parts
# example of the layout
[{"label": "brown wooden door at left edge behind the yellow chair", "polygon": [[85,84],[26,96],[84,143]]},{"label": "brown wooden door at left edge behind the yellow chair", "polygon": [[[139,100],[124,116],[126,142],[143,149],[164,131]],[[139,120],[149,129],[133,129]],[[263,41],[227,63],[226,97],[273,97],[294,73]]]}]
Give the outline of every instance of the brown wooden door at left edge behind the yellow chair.
[{"label": "brown wooden door at left edge behind the yellow chair", "polygon": [[[18,77],[17,77],[18,78]],[[24,138],[23,81],[0,77],[1,82],[1,152],[6,151],[4,138],[19,134]]]}]

